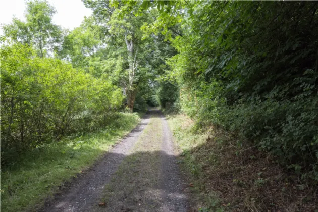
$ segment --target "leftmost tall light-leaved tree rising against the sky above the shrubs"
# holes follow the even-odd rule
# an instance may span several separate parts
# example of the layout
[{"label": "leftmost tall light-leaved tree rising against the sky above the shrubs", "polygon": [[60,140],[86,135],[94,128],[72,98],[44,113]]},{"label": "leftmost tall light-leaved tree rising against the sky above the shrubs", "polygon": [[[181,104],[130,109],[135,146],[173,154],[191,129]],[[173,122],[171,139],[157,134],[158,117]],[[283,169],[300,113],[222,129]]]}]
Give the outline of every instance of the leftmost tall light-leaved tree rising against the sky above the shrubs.
[{"label": "leftmost tall light-leaved tree rising against the sky above the shrubs", "polygon": [[13,18],[12,24],[4,26],[4,34],[14,41],[36,47],[38,55],[44,57],[61,41],[61,27],[52,23],[55,13],[47,1],[27,2],[26,22]]}]

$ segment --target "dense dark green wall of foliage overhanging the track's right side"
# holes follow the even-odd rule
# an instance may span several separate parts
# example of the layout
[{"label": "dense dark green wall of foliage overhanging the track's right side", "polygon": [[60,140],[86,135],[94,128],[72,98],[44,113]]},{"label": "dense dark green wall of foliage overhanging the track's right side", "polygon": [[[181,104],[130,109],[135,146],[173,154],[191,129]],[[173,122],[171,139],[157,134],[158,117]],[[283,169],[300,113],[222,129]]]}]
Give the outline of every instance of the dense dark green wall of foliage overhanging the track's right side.
[{"label": "dense dark green wall of foliage overhanging the track's right side", "polygon": [[180,35],[167,36],[178,50],[168,62],[182,111],[201,126],[243,135],[302,177],[317,180],[318,4],[206,1],[169,7],[145,30],[173,34],[163,23],[178,29]]}]

